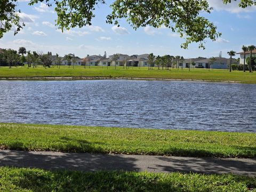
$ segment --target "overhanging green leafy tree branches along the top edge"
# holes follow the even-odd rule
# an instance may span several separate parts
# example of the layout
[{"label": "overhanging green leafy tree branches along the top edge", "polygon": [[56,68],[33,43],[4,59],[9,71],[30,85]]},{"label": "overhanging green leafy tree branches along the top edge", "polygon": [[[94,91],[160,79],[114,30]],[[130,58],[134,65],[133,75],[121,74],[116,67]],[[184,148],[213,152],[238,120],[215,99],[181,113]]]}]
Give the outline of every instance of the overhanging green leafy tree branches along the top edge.
[{"label": "overhanging green leafy tree branches along the top edge", "polygon": [[[14,34],[22,29],[24,23],[20,22],[20,12],[15,10],[18,0],[0,1],[0,38],[16,27]],[[236,0],[222,0],[231,3]],[[95,9],[98,4],[106,4],[105,0],[30,0],[29,5],[45,2],[47,6],[54,6],[58,15],[56,26],[61,29],[82,28],[92,25]],[[254,0],[240,0],[239,6],[245,8],[254,6]],[[110,4],[112,12],[107,15],[106,22],[119,26],[121,19],[137,29],[152,26],[155,28],[167,27],[185,39],[181,47],[187,49],[192,42],[199,43],[204,48],[205,39],[215,41],[221,33],[213,22],[202,16],[201,13],[211,13],[212,7],[207,0],[115,0]]]}]

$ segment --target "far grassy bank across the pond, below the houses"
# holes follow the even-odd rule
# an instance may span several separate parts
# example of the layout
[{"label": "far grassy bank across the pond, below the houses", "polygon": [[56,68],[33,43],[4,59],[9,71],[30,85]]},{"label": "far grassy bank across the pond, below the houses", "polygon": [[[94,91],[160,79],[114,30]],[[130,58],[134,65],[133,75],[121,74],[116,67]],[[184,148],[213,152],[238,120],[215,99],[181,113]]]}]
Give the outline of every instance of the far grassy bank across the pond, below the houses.
[{"label": "far grassy bank across the pond, below the houses", "polygon": [[75,69],[61,66],[57,68],[11,68],[0,67],[0,77],[67,77],[67,76],[86,76],[86,77],[132,77],[132,78],[174,78],[174,79],[202,79],[205,81],[235,81],[241,83],[256,83],[256,73],[244,73],[243,71],[232,71],[214,69],[171,69],[171,70],[148,70],[147,67],[91,67],[75,66]]}]

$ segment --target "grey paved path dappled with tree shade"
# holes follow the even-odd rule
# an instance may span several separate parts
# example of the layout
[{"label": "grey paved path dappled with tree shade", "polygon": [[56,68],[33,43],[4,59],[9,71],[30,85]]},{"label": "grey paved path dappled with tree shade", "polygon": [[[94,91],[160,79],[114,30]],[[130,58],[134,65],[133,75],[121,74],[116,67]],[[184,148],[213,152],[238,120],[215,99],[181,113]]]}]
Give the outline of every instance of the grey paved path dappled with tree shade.
[{"label": "grey paved path dappled with tree shade", "polygon": [[77,154],[0,150],[0,166],[47,170],[234,173],[256,177],[256,159]]}]

